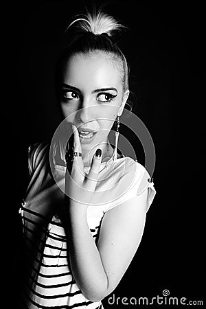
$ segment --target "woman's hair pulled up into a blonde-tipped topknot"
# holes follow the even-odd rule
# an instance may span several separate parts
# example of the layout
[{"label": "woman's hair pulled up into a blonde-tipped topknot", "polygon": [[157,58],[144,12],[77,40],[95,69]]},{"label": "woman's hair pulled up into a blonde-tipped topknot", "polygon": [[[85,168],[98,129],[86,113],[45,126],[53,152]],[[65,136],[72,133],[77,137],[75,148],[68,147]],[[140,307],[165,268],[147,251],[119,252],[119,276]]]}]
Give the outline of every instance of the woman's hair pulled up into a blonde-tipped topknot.
[{"label": "woman's hair pulled up into a blonde-tipped topknot", "polygon": [[[123,91],[125,92],[128,89],[128,64],[115,42],[115,34],[123,29],[126,29],[124,25],[118,23],[113,16],[100,10],[97,13],[94,10],[92,14],[87,12],[87,14],[78,15],[78,18],[72,21],[65,30],[65,33],[69,30],[70,37],[61,60],[65,60],[72,54],[103,52],[115,61],[121,71]],[[74,31],[72,32],[72,30]]]}]

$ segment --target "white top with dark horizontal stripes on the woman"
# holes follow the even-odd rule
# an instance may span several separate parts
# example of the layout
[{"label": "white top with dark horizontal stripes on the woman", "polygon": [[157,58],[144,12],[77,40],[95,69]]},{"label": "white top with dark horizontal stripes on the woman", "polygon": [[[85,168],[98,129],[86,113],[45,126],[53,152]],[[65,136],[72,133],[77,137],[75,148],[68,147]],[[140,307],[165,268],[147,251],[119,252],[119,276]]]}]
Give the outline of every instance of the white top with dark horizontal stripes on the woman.
[{"label": "white top with dark horizontal stripes on the woman", "polygon": [[[61,216],[49,214],[54,204],[64,201],[66,167],[54,160],[53,174],[49,171],[48,144],[36,144],[29,148],[30,183],[25,203],[21,207],[27,260],[32,271],[25,284],[23,304],[25,308],[103,308],[101,301],[93,302],[84,297],[75,282],[69,265],[69,240]],[[104,214],[144,190],[148,190],[147,210],[156,190],[146,168],[130,157],[122,157],[114,165],[104,169],[101,164],[95,192],[87,209],[87,222],[94,242]],[[84,168],[89,172],[89,168]],[[59,187],[52,179],[60,184]],[[52,197],[51,197],[52,196]],[[53,207],[53,208],[52,208]],[[138,207],[138,205],[137,205]],[[41,232],[39,232],[41,231]],[[29,268],[30,269],[30,268]],[[27,274],[28,271],[25,271]]]}]

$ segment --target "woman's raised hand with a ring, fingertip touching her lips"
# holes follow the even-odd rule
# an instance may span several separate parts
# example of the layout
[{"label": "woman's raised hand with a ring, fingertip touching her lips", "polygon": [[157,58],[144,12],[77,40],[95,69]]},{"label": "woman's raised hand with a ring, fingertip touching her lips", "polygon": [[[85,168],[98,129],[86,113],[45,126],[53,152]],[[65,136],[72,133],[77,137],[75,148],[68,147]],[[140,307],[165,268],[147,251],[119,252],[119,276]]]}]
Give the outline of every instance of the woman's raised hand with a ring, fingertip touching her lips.
[{"label": "woman's raised hand with a ring, fingertip touching her lips", "polygon": [[[73,149],[74,152],[82,153],[80,144],[80,137],[76,126],[72,124],[73,130]],[[95,192],[96,183],[98,181],[98,174],[100,164],[102,161],[102,151],[100,157],[93,156],[89,174],[84,172],[84,163],[82,157],[74,157],[71,172],[66,171],[65,176],[65,194],[69,196],[72,203],[89,205],[93,193]]]}]

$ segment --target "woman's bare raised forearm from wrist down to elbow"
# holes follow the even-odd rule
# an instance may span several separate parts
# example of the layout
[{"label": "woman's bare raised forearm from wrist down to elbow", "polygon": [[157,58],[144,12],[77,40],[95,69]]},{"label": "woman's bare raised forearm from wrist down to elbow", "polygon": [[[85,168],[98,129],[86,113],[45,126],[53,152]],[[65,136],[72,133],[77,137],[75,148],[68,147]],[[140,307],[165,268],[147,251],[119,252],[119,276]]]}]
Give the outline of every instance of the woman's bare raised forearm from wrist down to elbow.
[{"label": "woman's bare raised forearm from wrist down to elbow", "polygon": [[87,206],[70,203],[67,211],[69,259],[73,277],[87,299],[99,301],[106,295],[108,278],[87,224]]}]

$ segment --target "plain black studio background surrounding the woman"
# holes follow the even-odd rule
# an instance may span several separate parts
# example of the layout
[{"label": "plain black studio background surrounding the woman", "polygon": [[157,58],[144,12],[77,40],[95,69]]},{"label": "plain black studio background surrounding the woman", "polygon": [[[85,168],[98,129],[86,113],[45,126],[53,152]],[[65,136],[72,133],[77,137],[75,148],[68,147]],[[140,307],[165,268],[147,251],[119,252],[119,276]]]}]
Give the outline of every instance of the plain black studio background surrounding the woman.
[{"label": "plain black studio background surrounding the woman", "polygon": [[[105,3],[19,1],[5,11],[8,58],[3,105],[8,112],[3,120],[10,128],[5,155],[12,157],[5,160],[9,193],[3,207],[9,214],[5,216],[7,308],[14,308],[21,275],[17,210],[25,190],[27,146],[51,137],[60,120],[53,70],[62,33],[71,16],[84,12],[84,5],[91,8],[93,2]],[[153,174],[157,195],[148,211],[144,237],[115,289],[115,298],[157,297],[168,289],[171,297],[203,299],[204,8],[174,1],[150,5],[108,1],[105,12],[129,28],[120,47],[130,64],[130,89],[137,96],[134,112],[150,131],[157,155]],[[144,164],[142,150],[137,159]],[[125,308],[120,303],[109,305],[107,298],[104,308]]]}]

